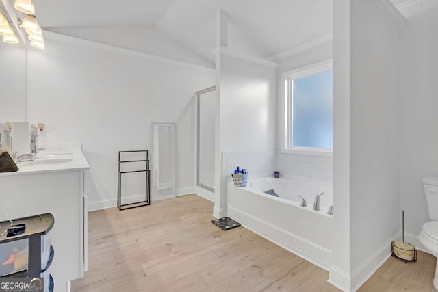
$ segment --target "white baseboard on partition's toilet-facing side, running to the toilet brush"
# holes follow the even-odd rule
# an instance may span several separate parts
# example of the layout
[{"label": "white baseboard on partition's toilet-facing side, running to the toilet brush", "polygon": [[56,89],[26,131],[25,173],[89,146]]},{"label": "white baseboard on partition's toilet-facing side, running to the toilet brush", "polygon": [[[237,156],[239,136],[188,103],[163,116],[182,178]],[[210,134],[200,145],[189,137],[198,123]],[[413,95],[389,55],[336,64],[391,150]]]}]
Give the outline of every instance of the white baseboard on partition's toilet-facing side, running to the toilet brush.
[{"label": "white baseboard on partition's toilet-facing side, running to the toilet brush", "polygon": [[377,271],[385,261],[391,256],[391,242],[398,240],[402,233],[399,231],[393,235],[387,242],[383,243],[380,248],[374,251],[368,258],[351,273],[352,291],[357,291],[371,276]]}]

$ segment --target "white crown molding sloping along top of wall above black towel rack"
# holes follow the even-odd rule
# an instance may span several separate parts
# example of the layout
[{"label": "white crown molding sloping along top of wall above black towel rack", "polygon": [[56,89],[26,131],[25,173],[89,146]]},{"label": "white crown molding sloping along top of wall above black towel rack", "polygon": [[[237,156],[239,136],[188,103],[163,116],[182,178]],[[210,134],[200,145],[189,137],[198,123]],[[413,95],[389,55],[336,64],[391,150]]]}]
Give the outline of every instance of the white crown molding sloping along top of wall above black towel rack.
[{"label": "white crown molding sloping along top of wall above black towel rack", "polygon": [[116,53],[116,54],[125,55],[125,56],[129,56],[129,57],[136,57],[139,59],[148,59],[148,60],[152,60],[152,61],[163,62],[163,63],[174,65],[174,66],[191,68],[194,70],[207,71],[207,72],[211,72],[211,73],[215,72],[214,68],[199,66],[199,65],[188,63],[188,62],[177,61],[175,59],[169,59],[166,57],[160,57],[157,55],[151,55],[151,54],[142,53],[139,51],[133,51],[133,50],[129,50],[129,49],[121,48],[121,47],[112,46],[110,44],[102,44],[101,42],[94,42],[92,40],[84,40],[83,38],[76,38],[74,36],[67,36],[66,34],[58,34],[58,33],[55,33],[53,31],[43,30],[42,33],[44,35],[44,38],[47,38],[50,40],[57,40],[60,42],[66,42],[68,44],[77,44],[77,45],[82,46],[82,47],[88,47],[88,48],[92,48],[92,49],[108,51],[111,53]]}]

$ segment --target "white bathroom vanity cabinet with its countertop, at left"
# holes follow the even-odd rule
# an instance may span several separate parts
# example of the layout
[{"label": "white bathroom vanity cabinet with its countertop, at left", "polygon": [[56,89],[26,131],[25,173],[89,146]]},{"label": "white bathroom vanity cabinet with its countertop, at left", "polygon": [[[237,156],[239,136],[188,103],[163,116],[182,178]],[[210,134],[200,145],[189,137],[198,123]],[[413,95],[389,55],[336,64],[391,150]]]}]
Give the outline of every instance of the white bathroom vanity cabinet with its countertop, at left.
[{"label": "white bathroom vanity cabinet with its countertop, at left", "polygon": [[[18,172],[0,174],[0,205],[10,219],[51,213],[51,245],[56,251],[51,275],[55,291],[69,291],[70,281],[87,269],[86,170],[79,149],[51,150],[34,161],[18,163]],[[0,209],[0,221],[7,219]]]}]

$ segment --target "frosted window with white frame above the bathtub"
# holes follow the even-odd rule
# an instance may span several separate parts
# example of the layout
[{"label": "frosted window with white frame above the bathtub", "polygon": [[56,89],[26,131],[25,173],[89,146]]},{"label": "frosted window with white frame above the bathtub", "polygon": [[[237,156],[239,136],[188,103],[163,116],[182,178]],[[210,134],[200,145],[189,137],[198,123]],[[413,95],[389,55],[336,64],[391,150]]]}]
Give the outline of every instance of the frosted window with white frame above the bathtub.
[{"label": "frosted window with white frame above the bathtub", "polygon": [[330,155],[333,148],[333,70],[331,60],[285,72],[287,152]]}]

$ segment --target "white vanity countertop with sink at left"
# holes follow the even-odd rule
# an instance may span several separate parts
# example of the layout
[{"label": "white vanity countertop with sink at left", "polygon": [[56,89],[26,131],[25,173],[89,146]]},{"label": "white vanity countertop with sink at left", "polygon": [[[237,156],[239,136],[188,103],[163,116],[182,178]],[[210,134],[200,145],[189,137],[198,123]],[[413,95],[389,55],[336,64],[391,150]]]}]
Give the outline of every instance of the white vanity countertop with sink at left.
[{"label": "white vanity countertop with sink at left", "polygon": [[17,164],[17,172],[3,172],[0,176],[59,172],[69,170],[87,170],[88,161],[80,150],[47,152],[43,151],[34,157],[34,161],[22,161]]}]

